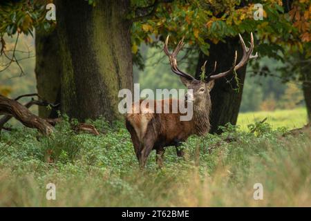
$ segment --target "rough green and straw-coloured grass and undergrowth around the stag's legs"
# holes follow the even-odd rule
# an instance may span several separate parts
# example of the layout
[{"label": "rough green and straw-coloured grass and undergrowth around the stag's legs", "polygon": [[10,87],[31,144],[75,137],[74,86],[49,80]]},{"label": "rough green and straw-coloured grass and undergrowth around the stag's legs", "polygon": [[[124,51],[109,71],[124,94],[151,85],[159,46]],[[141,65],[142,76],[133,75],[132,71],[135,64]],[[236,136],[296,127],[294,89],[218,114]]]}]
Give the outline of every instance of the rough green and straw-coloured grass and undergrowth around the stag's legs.
[{"label": "rough green and straw-coloured grass and undergrowth around the stag's legs", "polygon": [[[282,137],[268,124],[255,133],[229,126],[220,136],[190,137],[185,160],[167,148],[163,169],[152,153],[139,171],[124,126],[93,124],[104,134],[76,135],[66,122],[51,137],[3,133],[0,206],[311,206],[309,132]],[[228,136],[236,142],[221,141]],[[56,200],[46,200],[50,182]],[[256,183],[263,200],[253,198]]]}]

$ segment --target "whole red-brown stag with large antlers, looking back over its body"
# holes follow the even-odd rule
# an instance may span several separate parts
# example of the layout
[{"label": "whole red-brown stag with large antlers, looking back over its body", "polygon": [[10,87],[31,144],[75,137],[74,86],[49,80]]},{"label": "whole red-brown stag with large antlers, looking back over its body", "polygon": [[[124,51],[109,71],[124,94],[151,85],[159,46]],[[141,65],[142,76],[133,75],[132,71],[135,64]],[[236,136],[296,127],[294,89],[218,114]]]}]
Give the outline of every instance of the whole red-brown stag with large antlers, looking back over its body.
[{"label": "whole red-brown stag with large antlers, looking back over its body", "polygon": [[[250,35],[249,48],[245,46],[245,42],[241,35],[239,34],[238,36],[243,48],[243,57],[241,61],[236,64],[237,52],[235,52],[234,62],[229,70],[216,74],[215,62],[214,71],[206,75],[203,79],[196,79],[178,68],[177,55],[184,46],[184,37],[179,41],[175,50],[169,52],[167,46],[169,36],[167,36],[163,51],[167,57],[169,57],[171,70],[180,77],[180,81],[187,87],[187,91],[189,91],[189,89],[192,91],[192,93],[187,92],[185,99],[178,99],[177,103],[191,103],[193,105],[193,117],[189,121],[181,121],[180,116],[182,113],[180,113],[180,111],[177,113],[155,113],[151,110],[146,111],[149,106],[144,107],[145,110],[140,110],[139,113],[135,113],[134,109],[137,108],[137,105],[139,106],[142,104],[143,99],[140,99],[139,104],[133,102],[131,106],[132,112],[126,114],[125,124],[126,129],[131,135],[131,141],[133,142],[140,169],[144,169],[147,158],[152,150],[156,150],[156,162],[159,167],[162,167],[164,152],[167,146],[175,146],[177,156],[184,157],[184,151],[179,148],[182,142],[185,142],[190,135],[202,136],[209,133],[209,128],[211,126],[209,123],[209,113],[211,111],[211,97],[209,92],[214,87],[215,80],[226,77],[247,64],[249,59],[258,57],[257,53],[256,55],[252,55],[254,50],[254,37],[252,32]],[[164,106],[164,99],[154,100],[152,102],[154,107],[160,104]],[[170,110],[173,102],[173,98],[170,98],[168,101]]]}]

